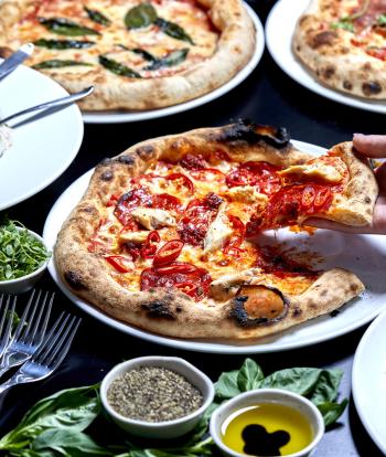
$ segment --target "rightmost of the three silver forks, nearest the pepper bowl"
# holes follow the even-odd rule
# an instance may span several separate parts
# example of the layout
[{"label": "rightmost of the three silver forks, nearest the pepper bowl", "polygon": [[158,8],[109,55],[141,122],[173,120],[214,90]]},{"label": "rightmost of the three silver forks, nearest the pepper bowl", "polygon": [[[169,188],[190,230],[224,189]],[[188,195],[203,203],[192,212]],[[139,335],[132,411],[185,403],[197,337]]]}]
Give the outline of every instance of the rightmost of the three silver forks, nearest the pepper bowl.
[{"label": "rightmost of the three silver forks, nearest the pepper bowl", "polygon": [[[20,366],[10,380],[0,385],[0,394],[12,387],[12,385],[25,384],[47,378],[66,357],[81,320],[81,318],[75,316],[71,318],[69,313],[65,315],[62,312],[32,358]],[[56,331],[57,328],[58,330]]]}]

